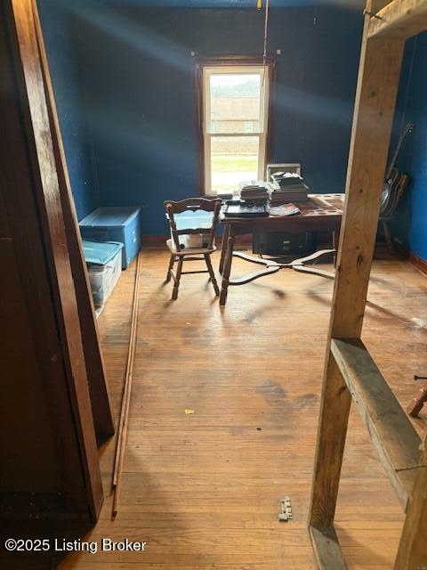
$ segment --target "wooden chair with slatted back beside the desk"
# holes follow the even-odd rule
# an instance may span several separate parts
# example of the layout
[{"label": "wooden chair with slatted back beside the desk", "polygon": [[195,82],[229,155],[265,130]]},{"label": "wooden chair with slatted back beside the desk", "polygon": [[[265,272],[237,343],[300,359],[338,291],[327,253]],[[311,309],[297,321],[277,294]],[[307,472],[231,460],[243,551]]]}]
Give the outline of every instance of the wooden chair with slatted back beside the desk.
[{"label": "wooden chair with slatted back beside the desk", "polygon": [[[173,278],[173,293],[172,298],[178,298],[178,289],[180,287],[181,275],[185,273],[209,273],[209,281],[214,285],[215,295],[218,297],[220,289],[215,279],[214,269],[211,262],[211,255],[216,250],[214,245],[215,231],[218,226],[222,200],[221,199],[205,199],[205,198],[187,198],[181,199],[179,202],[173,200],[165,201],[166,217],[171,226],[172,239],[167,240],[167,247],[171,251],[171,258],[169,260],[169,267],[167,269],[165,283],[171,281]],[[204,212],[213,212],[212,224],[207,228],[184,228],[178,230],[176,227],[175,217],[177,214],[182,214],[186,211],[196,212],[202,210]],[[182,248],[180,244],[181,235],[198,235],[207,236],[206,247],[201,248]],[[184,261],[203,261],[207,266],[207,270],[201,271],[182,271],[182,264]],[[174,263],[178,262],[176,273],[173,272]]]}]

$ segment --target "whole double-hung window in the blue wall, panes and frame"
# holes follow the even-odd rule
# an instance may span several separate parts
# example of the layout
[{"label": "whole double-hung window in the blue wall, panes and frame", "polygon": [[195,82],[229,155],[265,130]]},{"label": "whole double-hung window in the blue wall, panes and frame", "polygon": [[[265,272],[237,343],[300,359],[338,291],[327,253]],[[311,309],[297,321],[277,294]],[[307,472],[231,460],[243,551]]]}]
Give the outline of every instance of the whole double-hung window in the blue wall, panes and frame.
[{"label": "whole double-hung window in the blue wall, panes and frame", "polygon": [[262,180],[269,109],[269,70],[254,65],[203,68],[205,193]]}]

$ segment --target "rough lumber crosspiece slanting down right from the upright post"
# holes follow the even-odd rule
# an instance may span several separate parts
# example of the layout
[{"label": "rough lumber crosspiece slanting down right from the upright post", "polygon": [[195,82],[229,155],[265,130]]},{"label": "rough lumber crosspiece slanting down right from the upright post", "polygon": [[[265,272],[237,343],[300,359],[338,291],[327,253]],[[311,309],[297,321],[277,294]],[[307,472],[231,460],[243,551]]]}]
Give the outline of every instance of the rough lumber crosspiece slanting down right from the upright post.
[{"label": "rough lumber crosspiece slanting down right from the upright post", "polygon": [[421,440],[361,340],[334,338],[332,354],[406,510],[421,465]]}]

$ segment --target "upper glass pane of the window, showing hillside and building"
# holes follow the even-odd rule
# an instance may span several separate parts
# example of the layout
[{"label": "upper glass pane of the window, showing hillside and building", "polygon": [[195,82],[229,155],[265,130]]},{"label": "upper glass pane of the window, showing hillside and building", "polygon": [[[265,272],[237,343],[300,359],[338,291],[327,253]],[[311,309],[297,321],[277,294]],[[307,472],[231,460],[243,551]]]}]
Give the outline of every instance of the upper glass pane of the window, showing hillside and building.
[{"label": "upper glass pane of the window, showing hillside and building", "polygon": [[209,133],[262,132],[261,73],[212,74],[209,91]]}]

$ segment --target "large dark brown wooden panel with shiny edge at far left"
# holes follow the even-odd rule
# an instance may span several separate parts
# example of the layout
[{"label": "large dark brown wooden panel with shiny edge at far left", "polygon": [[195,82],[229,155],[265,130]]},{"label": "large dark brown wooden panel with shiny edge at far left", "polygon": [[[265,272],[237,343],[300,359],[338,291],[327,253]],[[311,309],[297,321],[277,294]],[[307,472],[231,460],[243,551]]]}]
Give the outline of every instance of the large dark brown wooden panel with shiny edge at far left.
[{"label": "large dark brown wooden panel with shiny edge at far left", "polygon": [[[31,0],[0,6],[0,248],[7,276],[0,288],[7,299],[8,388],[0,414],[0,517],[96,520],[103,493],[95,426],[101,418],[103,437],[109,436],[112,421],[106,387],[100,413],[91,404],[79,313],[89,293],[81,256],[76,265],[76,224],[34,7]],[[89,318],[90,299],[85,307]],[[100,368],[97,375],[105,382]]]}]

